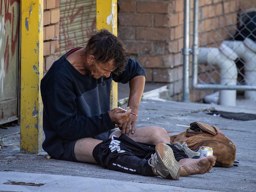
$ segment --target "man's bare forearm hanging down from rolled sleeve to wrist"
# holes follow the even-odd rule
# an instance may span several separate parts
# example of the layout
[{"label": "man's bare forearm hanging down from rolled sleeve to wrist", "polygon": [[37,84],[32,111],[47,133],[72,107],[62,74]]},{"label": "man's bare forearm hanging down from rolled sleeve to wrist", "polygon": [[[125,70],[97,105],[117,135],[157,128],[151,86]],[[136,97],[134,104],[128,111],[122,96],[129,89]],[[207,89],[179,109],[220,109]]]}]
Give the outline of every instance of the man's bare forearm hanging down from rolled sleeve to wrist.
[{"label": "man's bare forearm hanging down from rolled sleeve to wrist", "polygon": [[130,95],[128,106],[132,109],[132,112],[138,113],[139,103],[141,102],[141,97],[143,94],[145,86],[145,76],[136,76],[130,80]]}]

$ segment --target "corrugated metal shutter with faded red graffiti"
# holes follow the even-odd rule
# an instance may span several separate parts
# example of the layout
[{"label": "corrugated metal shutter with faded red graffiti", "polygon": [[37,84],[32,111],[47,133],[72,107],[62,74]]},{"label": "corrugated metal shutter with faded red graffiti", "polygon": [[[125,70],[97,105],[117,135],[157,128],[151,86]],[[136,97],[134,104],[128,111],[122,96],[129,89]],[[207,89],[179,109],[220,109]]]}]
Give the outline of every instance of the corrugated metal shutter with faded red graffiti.
[{"label": "corrugated metal shutter with faded red graffiti", "polygon": [[96,0],[61,0],[59,54],[84,46],[96,30]]}]

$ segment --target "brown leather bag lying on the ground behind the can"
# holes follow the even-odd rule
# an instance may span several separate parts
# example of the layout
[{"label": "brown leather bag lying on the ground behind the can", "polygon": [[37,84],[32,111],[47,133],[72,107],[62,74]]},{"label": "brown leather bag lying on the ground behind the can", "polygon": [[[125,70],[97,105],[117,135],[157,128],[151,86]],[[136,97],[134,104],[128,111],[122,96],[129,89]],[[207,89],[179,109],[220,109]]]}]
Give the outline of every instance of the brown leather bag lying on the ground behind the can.
[{"label": "brown leather bag lying on the ground behind the can", "polygon": [[186,142],[191,150],[200,146],[212,147],[213,155],[217,157],[217,166],[230,167],[236,158],[236,146],[216,126],[193,122],[186,131],[170,138],[171,144]]}]

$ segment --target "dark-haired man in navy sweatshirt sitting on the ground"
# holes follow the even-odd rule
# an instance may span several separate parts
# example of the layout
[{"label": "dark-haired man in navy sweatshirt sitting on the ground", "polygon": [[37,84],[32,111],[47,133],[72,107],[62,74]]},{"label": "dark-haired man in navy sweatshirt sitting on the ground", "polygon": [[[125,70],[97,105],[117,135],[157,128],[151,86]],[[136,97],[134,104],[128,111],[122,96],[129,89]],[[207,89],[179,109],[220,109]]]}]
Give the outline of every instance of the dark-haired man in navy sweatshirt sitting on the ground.
[{"label": "dark-haired man in navy sweatshirt sitting on the ground", "polygon": [[[55,159],[99,163],[132,174],[178,179],[211,170],[216,157],[188,159],[169,144],[164,128],[135,131],[137,116],[131,111],[138,113],[146,73],[127,55],[117,37],[101,30],[85,48],[74,48],[52,64],[41,81],[43,149]],[[110,110],[112,79],[129,82],[126,113]],[[115,125],[121,131],[113,131]]]}]

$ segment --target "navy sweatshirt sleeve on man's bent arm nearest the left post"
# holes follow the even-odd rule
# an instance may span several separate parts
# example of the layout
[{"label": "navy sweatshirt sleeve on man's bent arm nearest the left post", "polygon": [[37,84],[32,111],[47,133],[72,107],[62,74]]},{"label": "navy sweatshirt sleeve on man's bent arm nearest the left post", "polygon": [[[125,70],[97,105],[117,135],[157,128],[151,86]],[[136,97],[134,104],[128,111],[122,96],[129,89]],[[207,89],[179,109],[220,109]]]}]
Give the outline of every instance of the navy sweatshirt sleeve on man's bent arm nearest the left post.
[{"label": "navy sweatshirt sleeve on man's bent arm nearest the left post", "polygon": [[47,97],[46,112],[48,112],[50,123],[60,137],[67,140],[93,137],[115,128],[108,111],[94,116],[78,115],[76,96],[71,91],[63,92],[53,89],[48,92]]}]

